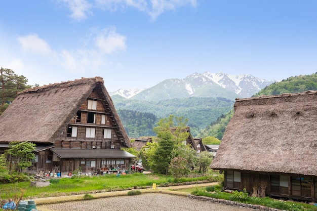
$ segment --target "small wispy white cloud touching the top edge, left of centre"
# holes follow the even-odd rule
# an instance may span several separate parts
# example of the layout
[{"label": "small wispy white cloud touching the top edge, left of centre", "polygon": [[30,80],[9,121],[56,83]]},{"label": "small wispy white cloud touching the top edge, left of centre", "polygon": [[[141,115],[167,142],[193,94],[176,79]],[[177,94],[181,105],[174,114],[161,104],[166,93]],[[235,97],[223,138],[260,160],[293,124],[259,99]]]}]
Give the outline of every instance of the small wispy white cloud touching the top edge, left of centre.
[{"label": "small wispy white cloud touching the top edge, left of centre", "polygon": [[88,18],[88,15],[92,15],[92,5],[86,0],[60,0],[66,4],[66,7],[71,12],[70,17],[74,20],[81,21]]}]

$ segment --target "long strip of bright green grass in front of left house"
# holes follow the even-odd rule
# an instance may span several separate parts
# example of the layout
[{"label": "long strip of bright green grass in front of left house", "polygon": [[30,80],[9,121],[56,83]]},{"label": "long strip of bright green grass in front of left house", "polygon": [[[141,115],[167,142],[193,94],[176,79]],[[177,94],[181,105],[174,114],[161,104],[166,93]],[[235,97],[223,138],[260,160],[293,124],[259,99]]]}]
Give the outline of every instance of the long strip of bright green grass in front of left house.
[{"label": "long strip of bright green grass in front of left house", "polygon": [[[58,181],[56,181],[58,180]],[[171,176],[156,174],[128,174],[116,177],[116,175],[106,175],[100,177],[71,177],[52,179],[48,187],[31,187],[30,182],[20,182],[14,184],[0,185],[0,199],[10,197],[23,198],[63,196],[72,194],[86,194],[91,192],[125,190],[137,186],[139,188],[157,186],[173,181]]]}]

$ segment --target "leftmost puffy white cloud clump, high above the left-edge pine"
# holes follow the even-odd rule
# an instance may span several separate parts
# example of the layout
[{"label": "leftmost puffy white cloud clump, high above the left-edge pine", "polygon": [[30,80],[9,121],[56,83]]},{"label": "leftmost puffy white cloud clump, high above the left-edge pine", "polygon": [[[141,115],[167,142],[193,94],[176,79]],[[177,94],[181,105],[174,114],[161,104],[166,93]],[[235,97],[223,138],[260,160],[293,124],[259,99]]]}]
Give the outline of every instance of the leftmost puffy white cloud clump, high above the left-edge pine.
[{"label": "leftmost puffy white cloud clump, high above the left-edge pine", "polygon": [[38,38],[37,34],[30,34],[27,36],[19,36],[18,41],[21,44],[23,51],[32,52],[41,55],[49,55],[52,50],[48,43]]}]

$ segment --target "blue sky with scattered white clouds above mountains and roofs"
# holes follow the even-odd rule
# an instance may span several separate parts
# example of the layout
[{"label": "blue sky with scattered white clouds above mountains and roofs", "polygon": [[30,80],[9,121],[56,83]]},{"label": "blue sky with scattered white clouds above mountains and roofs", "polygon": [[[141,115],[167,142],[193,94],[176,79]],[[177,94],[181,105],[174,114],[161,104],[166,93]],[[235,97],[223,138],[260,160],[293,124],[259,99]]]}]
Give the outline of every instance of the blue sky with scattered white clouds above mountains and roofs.
[{"label": "blue sky with scattered white clouds above mountains and roofs", "polygon": [[194,72],[317,72],[317,1],[0,2],[0,66],[40,86],[101,76],[109,92]]}]

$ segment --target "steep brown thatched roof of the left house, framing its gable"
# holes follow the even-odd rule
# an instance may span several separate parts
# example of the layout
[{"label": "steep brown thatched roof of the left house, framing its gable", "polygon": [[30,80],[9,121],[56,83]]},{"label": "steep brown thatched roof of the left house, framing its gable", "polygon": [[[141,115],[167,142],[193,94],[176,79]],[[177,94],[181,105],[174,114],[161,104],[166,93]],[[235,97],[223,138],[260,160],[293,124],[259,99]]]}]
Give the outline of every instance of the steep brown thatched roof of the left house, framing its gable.
[{"label": "steep brown thatched roof of the left house, framing its gable", "polygon": [[54,143],[70,119],[94,89],[116,122],[114,129],[126,147],[130,140],[118,117],[101,77],[82,78],[36,87],[18,94],[0,116],[0,142],[30,141]]}]

